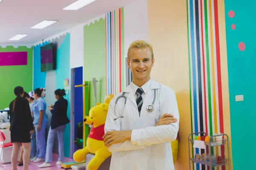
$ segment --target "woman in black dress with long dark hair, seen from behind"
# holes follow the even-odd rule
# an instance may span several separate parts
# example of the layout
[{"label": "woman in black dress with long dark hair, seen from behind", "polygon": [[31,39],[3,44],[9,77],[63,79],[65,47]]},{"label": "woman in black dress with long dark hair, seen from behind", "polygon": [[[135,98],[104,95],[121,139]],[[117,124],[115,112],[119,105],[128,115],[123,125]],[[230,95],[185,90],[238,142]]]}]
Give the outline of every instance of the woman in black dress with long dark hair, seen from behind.
[{"label": "woman in black dress with long dark hair, seen from behind", "polygon": [[17,159],[22,144],[23,147],[23,170],[29,168],[30,157],[30,131],[34,129],[33,120],[30,113],[29,102],[24,99],[24,90],[21,86],[14,89],[16,96],[10,105],[10,131],[12,149],[12,169],[17,170]]}]

